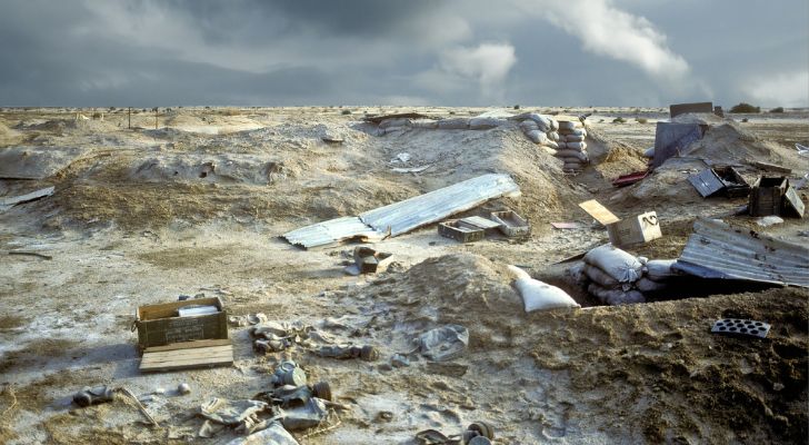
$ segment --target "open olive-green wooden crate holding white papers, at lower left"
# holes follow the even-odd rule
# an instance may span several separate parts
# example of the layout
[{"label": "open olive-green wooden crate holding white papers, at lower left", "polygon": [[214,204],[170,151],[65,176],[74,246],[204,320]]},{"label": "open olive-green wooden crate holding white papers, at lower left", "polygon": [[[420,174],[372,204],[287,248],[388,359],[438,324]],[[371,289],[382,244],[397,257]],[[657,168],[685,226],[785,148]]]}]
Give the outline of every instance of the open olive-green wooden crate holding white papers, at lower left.
[{"label": "open olive-green wooden crate holding white papers, at lower left", "polygon": [[[178,316],[179,308],[194,305],[216,306],[219,312],[191,317]],[[134,325],[141,353],[154,346],[228,338],[228,313],[218,297],[141,306],[136,312]]]}]

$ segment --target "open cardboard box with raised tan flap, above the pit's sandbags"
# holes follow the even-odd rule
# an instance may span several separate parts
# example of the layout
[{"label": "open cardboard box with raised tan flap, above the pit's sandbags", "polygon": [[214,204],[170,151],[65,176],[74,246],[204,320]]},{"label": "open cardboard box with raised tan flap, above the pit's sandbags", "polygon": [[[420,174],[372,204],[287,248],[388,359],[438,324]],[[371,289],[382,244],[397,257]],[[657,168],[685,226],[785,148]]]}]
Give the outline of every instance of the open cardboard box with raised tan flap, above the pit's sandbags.
[{"label": "open cardboard box with raised tan flap, above the pit's sandbags", "polygon": [[595,199],[579,204],[585,211],[607,227],[613,246],[631,246],[662,237],[660,221],[655,211],[620,219]]}]

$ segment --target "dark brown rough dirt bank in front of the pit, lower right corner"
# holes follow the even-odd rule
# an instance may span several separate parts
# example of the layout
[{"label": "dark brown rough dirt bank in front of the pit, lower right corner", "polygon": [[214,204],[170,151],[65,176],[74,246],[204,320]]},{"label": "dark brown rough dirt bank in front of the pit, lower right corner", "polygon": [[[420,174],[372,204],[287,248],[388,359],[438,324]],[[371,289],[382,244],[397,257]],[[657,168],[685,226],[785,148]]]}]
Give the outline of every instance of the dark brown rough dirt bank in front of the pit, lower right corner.
[{"label": "dark brown rough dirt bank in front of the pit, lower right corner", "polygon": [[[575,403],[630,442],[798,443],[807,437],[806,289],[781,288],[536,316],[541,368],[567,370]],[[709,333],[766,320],[766,339]],[[579,407],[582,409],[582,407]]]}]

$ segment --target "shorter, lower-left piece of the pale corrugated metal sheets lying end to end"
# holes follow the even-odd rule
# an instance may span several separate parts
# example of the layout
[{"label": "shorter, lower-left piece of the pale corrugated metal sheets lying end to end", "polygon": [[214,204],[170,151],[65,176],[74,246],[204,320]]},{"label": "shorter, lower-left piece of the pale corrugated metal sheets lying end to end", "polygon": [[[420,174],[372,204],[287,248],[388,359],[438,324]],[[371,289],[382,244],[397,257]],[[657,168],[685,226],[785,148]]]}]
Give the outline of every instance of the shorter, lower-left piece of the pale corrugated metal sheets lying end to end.
[{"label": "shorter, lower-left piece of the pale corrugated metal sheets lying end to end", "polygon": [[347,216],[301,227],[281,237],[296,246],[309,249],[333,246],[351,238],[381,239],[383,234],[377,233],[356,216]]}]

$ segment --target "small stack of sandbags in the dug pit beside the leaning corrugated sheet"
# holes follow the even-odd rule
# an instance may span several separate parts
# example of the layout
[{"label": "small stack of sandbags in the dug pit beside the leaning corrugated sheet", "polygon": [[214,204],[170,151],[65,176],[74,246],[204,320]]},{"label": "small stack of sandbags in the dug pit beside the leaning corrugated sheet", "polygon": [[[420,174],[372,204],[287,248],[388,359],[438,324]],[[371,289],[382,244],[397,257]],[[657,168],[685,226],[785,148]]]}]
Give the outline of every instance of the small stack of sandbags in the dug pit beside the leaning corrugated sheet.
[{"label": "small stack of sandbags in the dug pit beside the leaning corrugated sheet", "polygon": [[643,294],[635,287],[643,274],[643,264],[635,256],[607,244],[585,255],[587,291],[608,305],[643,303]]}]

